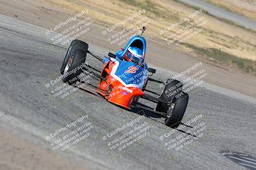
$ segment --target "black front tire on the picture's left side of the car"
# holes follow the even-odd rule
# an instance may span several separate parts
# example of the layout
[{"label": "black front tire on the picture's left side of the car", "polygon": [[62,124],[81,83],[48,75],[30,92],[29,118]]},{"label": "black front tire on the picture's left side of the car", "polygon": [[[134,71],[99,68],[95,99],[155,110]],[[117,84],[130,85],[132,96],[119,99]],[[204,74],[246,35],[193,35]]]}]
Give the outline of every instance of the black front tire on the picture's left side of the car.
[{"label": "black front tire on the picture's left side of the car", "polygon": [[71,53],[70,57],[73,58],[72,64],[70,64],[70,66],[68,66],[68,63],[66,64],[67,70],[65,68],[62,80],[64,83],[68,82],[69,84],[74,84],[79,80],[79,74],[83,72],[82,69],[86,59],[86,52],[84,52],[84,50],[76,49]]}]

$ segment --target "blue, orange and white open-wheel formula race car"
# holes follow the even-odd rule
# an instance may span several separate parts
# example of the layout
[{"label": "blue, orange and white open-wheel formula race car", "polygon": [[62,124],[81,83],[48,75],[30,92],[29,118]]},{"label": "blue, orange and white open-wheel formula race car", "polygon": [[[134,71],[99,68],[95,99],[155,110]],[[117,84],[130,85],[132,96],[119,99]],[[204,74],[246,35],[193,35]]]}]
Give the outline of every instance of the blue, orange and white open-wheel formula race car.
[{"label": "blue, orange and white open-wheel formula race car", "polygon": [[[151,111],[164,117],[165,125],[175,128],[179,126],[184,116],[189,96],[182,92],[180,81],[172,79],[160,81],[149,77],[156,73],[156,69],[149,68],[145,62],[146,40],[142,36],[145,29],[143,27],[141,34],[131,38],[124,48],[115,54],[109,53],[108,57],[104,58],[90,52],[87,43],[73,40],[61,66],[63,82],[86,83],[109,102],[128,110],[141,108]],[[102,62],[101,71],[86,62],[87,54]],[[88,81],[83,81],[84,75],[90,75],[99,80],[99,85],[95,86]],[[157,94],[147,90],[148,81],[161,83],[164,87],[163,92]],[[140,98],[157,103],[156,109],[153,110],[139,103]]]}]

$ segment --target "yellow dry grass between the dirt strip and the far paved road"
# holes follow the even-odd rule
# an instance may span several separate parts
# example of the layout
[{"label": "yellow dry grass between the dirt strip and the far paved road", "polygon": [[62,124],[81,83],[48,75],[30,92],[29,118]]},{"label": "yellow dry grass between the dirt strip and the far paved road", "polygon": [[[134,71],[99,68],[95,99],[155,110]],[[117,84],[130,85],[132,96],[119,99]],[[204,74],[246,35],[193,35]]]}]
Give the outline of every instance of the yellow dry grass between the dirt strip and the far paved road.
[{"label": "yellow dry grass between the dirt strip and the far paved road", "polygon": [[[195,11],[194,8],[185,6],[184,4],[171,1],[171,0],[44,0],[52,5],[57,5],[67,13],[74,14],[80,10],[88,10],[89,15],[97,24],[110,26],[116,24],[131,16],[141,8],[147,10],[145,15],[150,19],[150,24],[147,25],[147,37],[165,39],[171,32],[160,36],[159,31],[163,30],[173,22],[177,22],[180,19],[187,17]],[[238,1],[238,0],[237,0]],[[198,52],[193,46],[200,49],[220,50],[221,52],[241,59],[256,60],[256,33],[232,25],[224,20],[212,17],[207,13],[202,13],[200,16],[194,18],[194,20],[205,17],[207,24],[203,26],[204,31],[186,41],[187,45],[182,45],[182,49],[185,51]],[[139,18],[138,18],[139,20]],[[133,21],[134,22],[134,21]],[[191,20],[190,22],[193,22]],[[127,22],[122,27],[127,27],[131,22]],[[173,29],[173,32],[179,30],[184,25],[188,25],[188,22],[179,25]],[[122,29],[120,27],[119,29]],[[164,43],[165,44],[165,43]],[[165,44],[166,45],[166,44]],[[190,46],[188,46],[190,45]],[[215,53],[215,55],[221,55],[223,53]],[[204,55],[204,53],[198,53]],[[227,55],[216,56],[214,59],[218,60],[221,57],[227,57]],[[225,60],[225,59],[223,59]],[[246,61],[246,63],[248,62]],[[241,62],[239,60],[239,62]],[[235,63],[235,64],[234,64]],[[237,62],[238,63],[238,62]],[[253,62],[254,63],[254,62]],[[236,62],[228,63],[231,65],[237,65]],[[238,67],[245,67],[246,64],[239,64]],[[246,69],[244,69],[246,70]],[[253,69],[254,71],[254,69]],[[253,72],[247,71],[247,72]],[[255,68],[256,73],[256,68]]]}]

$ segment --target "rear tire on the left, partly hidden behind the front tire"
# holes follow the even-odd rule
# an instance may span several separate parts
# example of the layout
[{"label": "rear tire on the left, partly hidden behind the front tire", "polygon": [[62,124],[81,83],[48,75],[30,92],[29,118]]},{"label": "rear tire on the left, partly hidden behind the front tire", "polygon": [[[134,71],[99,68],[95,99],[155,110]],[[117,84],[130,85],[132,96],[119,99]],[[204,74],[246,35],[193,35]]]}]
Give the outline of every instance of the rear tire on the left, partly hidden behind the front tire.
[{"label": "rear tire on the left, partly hidden behind the front tire", "polygon": [[67,66],[68,59],[70,58],[72,53],[75,52],[76,49],[80,49],[80,50],[83,50],[84,52],[87,52],[88,44],[84,43],[83,41],[80,41],[78,39],[74,39],[70,43],[70,45],[68,47],[68,50],[67,50],[67,53],[65,55],[65,58],[64,58],[64,60],[62,62],[62,65],[61,65],[61,69],[60,69],[61,75],[63,75],[63,73],[64,73],[65,67]]}]

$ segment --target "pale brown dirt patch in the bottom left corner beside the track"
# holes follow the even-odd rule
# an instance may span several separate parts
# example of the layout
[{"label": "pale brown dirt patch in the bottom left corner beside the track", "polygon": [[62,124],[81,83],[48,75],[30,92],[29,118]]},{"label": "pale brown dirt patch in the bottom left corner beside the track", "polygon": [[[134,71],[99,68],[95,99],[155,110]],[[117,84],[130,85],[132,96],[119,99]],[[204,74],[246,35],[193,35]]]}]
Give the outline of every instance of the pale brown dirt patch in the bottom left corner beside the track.
[{"label": "pale brown dirt patch in the bottom left corner beside the track", "polygon": [[9,131],[0,131],[0,136],[0,169],[84,169],[56,153],[17,138]]}]

